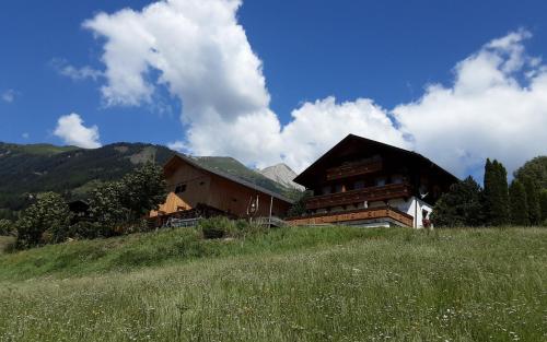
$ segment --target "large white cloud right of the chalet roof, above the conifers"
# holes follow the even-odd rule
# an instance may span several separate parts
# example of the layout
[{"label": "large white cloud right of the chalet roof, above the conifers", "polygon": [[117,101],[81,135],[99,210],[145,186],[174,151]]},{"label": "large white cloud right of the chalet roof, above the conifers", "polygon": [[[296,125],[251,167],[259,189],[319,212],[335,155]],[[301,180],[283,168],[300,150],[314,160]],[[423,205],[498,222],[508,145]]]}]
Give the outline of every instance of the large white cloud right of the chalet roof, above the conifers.
[{"label": "large white cloud right of the chalet roof, above the conifers", "polygon": [[547,153],[547,72],[525,55],[529,37],[520,31],[493,39],[457,63],[451,86],[429,86],[417,102],[397,106],[393,113],[414,149],[459,176],[486,157],[512,172]]}]

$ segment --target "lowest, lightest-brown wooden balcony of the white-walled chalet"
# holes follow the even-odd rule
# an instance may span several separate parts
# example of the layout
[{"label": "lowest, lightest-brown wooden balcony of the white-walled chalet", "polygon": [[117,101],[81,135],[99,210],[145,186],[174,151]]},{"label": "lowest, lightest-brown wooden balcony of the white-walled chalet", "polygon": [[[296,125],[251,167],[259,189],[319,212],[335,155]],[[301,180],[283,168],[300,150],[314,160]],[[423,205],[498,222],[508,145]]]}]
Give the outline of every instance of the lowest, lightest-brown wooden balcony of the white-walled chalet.
[{"label": "lowest, lightest-brown wooden balcony of the white-walled chalet", "polygon": [[414,217],[395,208],[382,207],[344,211],[336,213],[315,214],[305,217],[287,219],[290,225],[314,225],[314,224],[337,224],[351,223],[356,221],[373,222],[385,221],[400,226],[412,227]]}]

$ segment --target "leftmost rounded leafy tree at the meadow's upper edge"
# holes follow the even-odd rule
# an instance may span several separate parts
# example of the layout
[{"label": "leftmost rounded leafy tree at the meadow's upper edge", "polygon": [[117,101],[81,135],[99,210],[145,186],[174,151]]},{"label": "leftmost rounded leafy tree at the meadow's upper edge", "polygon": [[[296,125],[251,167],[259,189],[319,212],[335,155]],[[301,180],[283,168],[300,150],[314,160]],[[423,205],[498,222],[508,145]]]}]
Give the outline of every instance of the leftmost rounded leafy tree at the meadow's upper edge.
[{"label": "leftmost rounded leafy tree at the meadow's upper edge", "polygon": [[28,248],[63,241],[68,237],[70,219],[70,210],[60,194],[39,193],[36,203],[23,211],[15,225],[18,247]]}]

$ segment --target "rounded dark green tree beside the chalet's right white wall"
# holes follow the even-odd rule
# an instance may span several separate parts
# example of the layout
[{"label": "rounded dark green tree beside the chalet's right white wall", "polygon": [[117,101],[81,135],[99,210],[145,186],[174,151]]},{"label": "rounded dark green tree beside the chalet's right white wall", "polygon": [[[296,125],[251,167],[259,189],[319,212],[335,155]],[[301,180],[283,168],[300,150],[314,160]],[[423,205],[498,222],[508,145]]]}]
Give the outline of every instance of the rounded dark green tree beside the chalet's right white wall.
[{"label": "rounded dark green tree beside the chalet's right white wall", "polygon": [[484,224],[480,186],[467,177],[451,186],[437,201],[431,221],[437,226],[479,226]]}]

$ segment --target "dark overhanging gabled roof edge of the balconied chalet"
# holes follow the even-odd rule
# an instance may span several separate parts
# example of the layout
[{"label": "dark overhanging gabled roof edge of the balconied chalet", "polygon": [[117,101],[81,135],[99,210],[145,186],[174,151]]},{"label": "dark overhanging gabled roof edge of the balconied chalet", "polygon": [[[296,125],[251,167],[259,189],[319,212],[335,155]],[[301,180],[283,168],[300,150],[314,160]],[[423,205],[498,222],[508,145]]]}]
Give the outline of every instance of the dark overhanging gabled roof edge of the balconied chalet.
[{"label": "dark overhanging gabled roof edge of the balconied chalet", "polygon": [[407,156],[414,157],[414,158],[416,158],[416,160],[418,160],[418,161],[420,161],[420,162],[422,162],[424,164],[428,164],[428,165],[432,166],[433,168],[435,168],[437,170],[439,170],[441,174],[443,174],[447,179],[451,179],[454,182],[459,180],[456,176],[452,175],[451,173],[449,173],[447,170],[445,170],[441,166],[437,165],[435,163],[433,163],[432,161],[430,161],[429,158],[424,157],[423,155],[421,155],[421,154],[419,154],[417,152],[408,151],[408,150],[400,149],[400,148],[396,148],[396,146],[393,146],[393,145],[389,145],[389,144],[386,144],[386,143],[383,143],[383,142],[380,142],[380,141],[375,141],[375,140],[372,140],[372,139],[366,139],[366,138],[354,135],[354,134],[348,134],[340,142],[338,142],[330,150],[328,150],[325,154],[323,154],[318,160],[316,160],[312,165],[310,165],[306,169],[304,169],[300,175],[298,175],[293,179],[293,181],[298,182],[300,185],[304,185],[304,182],[306,182],[305,179],[309,176],[311,176],[311,174],[313,173],[313,170],[314,170],[314,168],[316,166],[321,165],[324,161],[326,161],[330,156],[335,155],[337,153],[337,151],[340,149],[340,146],[342,146],[344,144],[346,144],[348,142],[351,142],[351,141],[353,141],[353,142],[360,142],[360,143],[365,143],[365,144],[369,144],[369,145],[372,145],[372,146],[377,146],[377,148],[382,148],[382,149],[385,149],[385,150],[391,150],[391,151],[395,151],[395,152],[405,154]]}]

